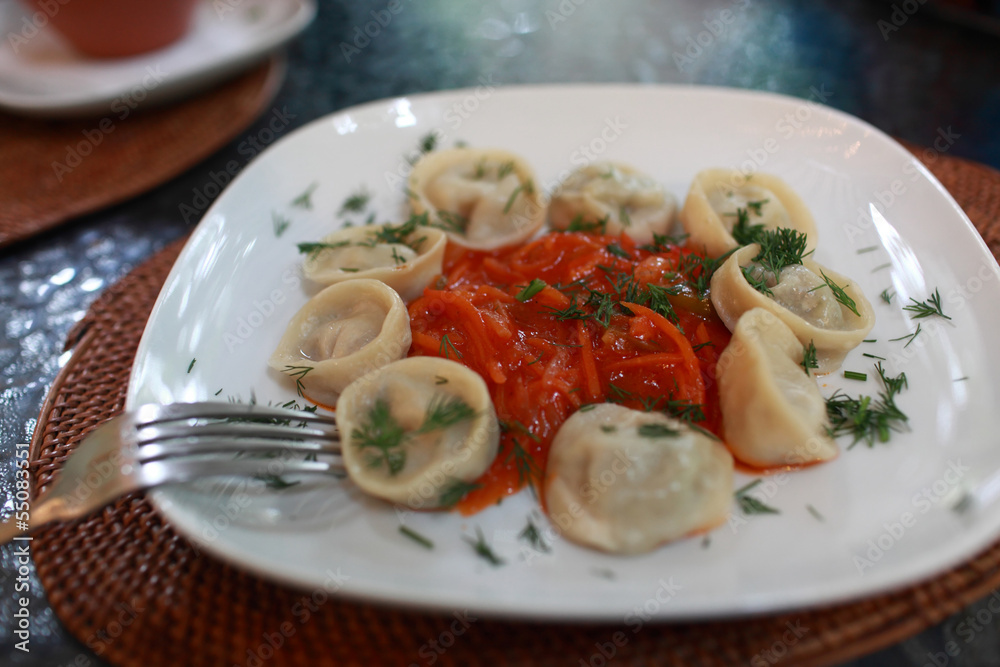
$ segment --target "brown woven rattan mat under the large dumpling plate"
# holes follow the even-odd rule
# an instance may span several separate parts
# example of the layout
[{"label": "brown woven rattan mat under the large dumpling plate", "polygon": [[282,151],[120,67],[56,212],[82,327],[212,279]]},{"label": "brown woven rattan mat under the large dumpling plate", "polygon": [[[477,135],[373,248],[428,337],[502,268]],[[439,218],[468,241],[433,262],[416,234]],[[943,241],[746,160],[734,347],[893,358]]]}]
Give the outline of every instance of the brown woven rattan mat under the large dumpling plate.
[{"label": "brown woven rattan mat under the large dumpling plate", "polygon": [[[1000,255],[1000,173],[944,156],[929,164]],[[36,489],[51,482],[89,430],[121,411],[144,320],[180,247],[167,248],[109,289],[71,336],[75,354],[42,408],[32,443]],[[828,665],[898,642],[1000,585],[998,542],[931,581],[826,609],[647,625],[638,633],[613,624],[480,619],[456,637],[450,628],[461,625],[453,626],[448,615],[327,599],[322,589],[292,590],[199,554],[142,494],[43,530],[33,554],[69,631],[112,663],[142,667],[430,665],[432,659],[575,666],[604,664],[602,650],[624,664],[745,665],[781,658],[781,664]],[[303,599],[310,595],[315,611],[305,619]],[[625,645],[616,646],[616,638]]]}]

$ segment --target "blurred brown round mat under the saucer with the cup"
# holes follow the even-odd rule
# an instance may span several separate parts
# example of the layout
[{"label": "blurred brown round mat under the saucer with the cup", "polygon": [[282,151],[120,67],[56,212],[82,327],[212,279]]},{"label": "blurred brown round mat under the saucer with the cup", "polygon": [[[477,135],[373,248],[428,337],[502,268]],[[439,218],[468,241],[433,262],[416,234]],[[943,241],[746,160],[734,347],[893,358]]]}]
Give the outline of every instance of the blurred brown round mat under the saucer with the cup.
[{"label": "blurred brown round mat under the saucer with the cup", "polygon": [[0,112],[0,247],[128,199],[197,164],[264,111],[284,72],[284,62],[271,59],[182,102],[131,113],[122,104],[103,118],[41,120]]}]

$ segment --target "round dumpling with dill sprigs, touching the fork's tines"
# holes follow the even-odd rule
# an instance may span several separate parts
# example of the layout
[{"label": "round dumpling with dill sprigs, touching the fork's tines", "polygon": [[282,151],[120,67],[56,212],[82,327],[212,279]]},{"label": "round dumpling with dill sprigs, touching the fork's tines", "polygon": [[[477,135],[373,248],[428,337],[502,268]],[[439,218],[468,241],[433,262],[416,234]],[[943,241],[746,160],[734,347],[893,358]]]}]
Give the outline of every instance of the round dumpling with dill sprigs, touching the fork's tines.
[{"label": "round dumpling with dill sprigs, touching the fork's tines", "polygon": [[486,383],[438,357],[403,359],[348,386],[337,426],[351,479],[414,509],[454,504],[489,468],[500,441]]}]

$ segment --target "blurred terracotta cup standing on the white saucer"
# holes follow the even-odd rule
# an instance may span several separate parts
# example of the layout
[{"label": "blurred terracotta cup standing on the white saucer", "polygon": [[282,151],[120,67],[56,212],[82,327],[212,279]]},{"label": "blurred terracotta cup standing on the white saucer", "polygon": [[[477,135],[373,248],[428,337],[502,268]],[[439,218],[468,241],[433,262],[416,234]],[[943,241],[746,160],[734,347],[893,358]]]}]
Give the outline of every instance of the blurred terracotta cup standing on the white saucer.
[{"label": "blurred terracotta cup standing on the white saucer", "polygon": [[199,0],[27,0],[77,51],[121,58],[167,46],[191,27]]}]

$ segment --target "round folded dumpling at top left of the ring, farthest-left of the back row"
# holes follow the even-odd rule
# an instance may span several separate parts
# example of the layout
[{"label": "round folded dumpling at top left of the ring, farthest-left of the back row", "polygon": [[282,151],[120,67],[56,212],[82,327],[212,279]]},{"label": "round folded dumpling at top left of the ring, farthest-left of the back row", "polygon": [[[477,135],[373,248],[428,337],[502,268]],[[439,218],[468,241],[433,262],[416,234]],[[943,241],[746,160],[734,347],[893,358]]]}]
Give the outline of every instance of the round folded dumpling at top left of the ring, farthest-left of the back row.
[{"label": "round folded dumpling at top left of the ring, farthest-left of the back row", "polygon": [[476,250],[520,243],[545,221],[531,167],[502,150],[453,148],[425,154],[410,172],[410,207],[427,213],[454,243]]}]

